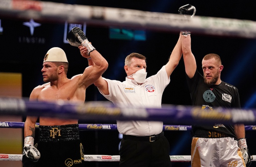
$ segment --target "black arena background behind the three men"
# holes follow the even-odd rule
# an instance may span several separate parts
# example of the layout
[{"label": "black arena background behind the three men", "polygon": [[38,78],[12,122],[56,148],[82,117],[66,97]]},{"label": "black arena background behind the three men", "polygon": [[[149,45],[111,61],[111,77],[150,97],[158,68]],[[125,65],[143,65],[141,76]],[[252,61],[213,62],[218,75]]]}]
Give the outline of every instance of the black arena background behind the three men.
[{"label": "black arena background behind the three men", "polygon": [[[59,2],[59,1],[53,1]],[[196,15],[246,19],[256,21],[256,2],[244,0],[66,0],[63,3],[137,9],[150,12],[178,13],[178,8],[190,3],[197,9]],[[37,85],[43,84],[42,63],[48,49],[60,47],[64,49],[69,61],[67,77],[83,73],[88,66],[87,60],[80,55],[79,49],[63,43],[64,23],[40,22],[31,36],[29,27],[24,22],[29,19],[17,19],[0,16],[3,32],[0,34],[0,72],[22,73],[22,96],[29,97]],[[125,27],[123,27],[125,28]],[[241,31],[243,31],[241,29]],[[147,57],[147,76],[167,63],[170,52],[178,40],[179,32],[145,31],[146,40],[109,39],[109,27],[86,26],[86,37],[93,46],[106,58],[109,68],[103,77],[114,80],[125,80],[124,60],[132,52]],[[193,34],[192,52],[197,60],[199,72],[201,60],[208,53],[220,55],[224,69],[221,79],[239,90],[243,108],[256,107],[256,40],[238,37],[205,36]],[[105,101],[97,88],[91,85],[86,90],[86,101]],[[171,82],[166,87],[162,103],[174,105],[190,105],[190,95],[185,81],[183,59],[171,75]],[[115,121],[80,121],[80,123],[111,123]],[[170,123],[168,123],[170,124]],[[180,123],[185,124],[185,123]],[[81,131],[81,139],[85,154],[118,155],[118,131]],[[166,131],[165,136],[170,142],[170,155],[190,155],[191,136],[189,131]],[[246,131],[247,144],[251,155],[256,155],[253,144],[256,134]],[[118,162],[86,162],[87,166],[118,166]],[[252,163],[252,166],[255,162]],[[189,167],[189,162],[173,162],[173,167]]]}]

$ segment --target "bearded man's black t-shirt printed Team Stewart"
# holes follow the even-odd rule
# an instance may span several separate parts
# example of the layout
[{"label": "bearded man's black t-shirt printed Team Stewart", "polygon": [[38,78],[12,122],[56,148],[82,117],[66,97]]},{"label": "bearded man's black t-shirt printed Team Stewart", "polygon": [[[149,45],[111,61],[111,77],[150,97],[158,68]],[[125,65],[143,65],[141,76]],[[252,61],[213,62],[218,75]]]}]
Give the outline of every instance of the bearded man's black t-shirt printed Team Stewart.
[{"label": "bearded man's black t-shirt printed Team Stewart", "polygon": [[[193,78],[187,76],[187,83],[193,106],[201,106],[204,110],[211,110],[214,107],[241,107],[238,90],[229,83],[221,81],[219,85],[208,86],[198,71],[195,72]],[[195,133],[197,130],[220,132],[237,139],[234,126],[230,124],[192,125],[192,132]]]}]

